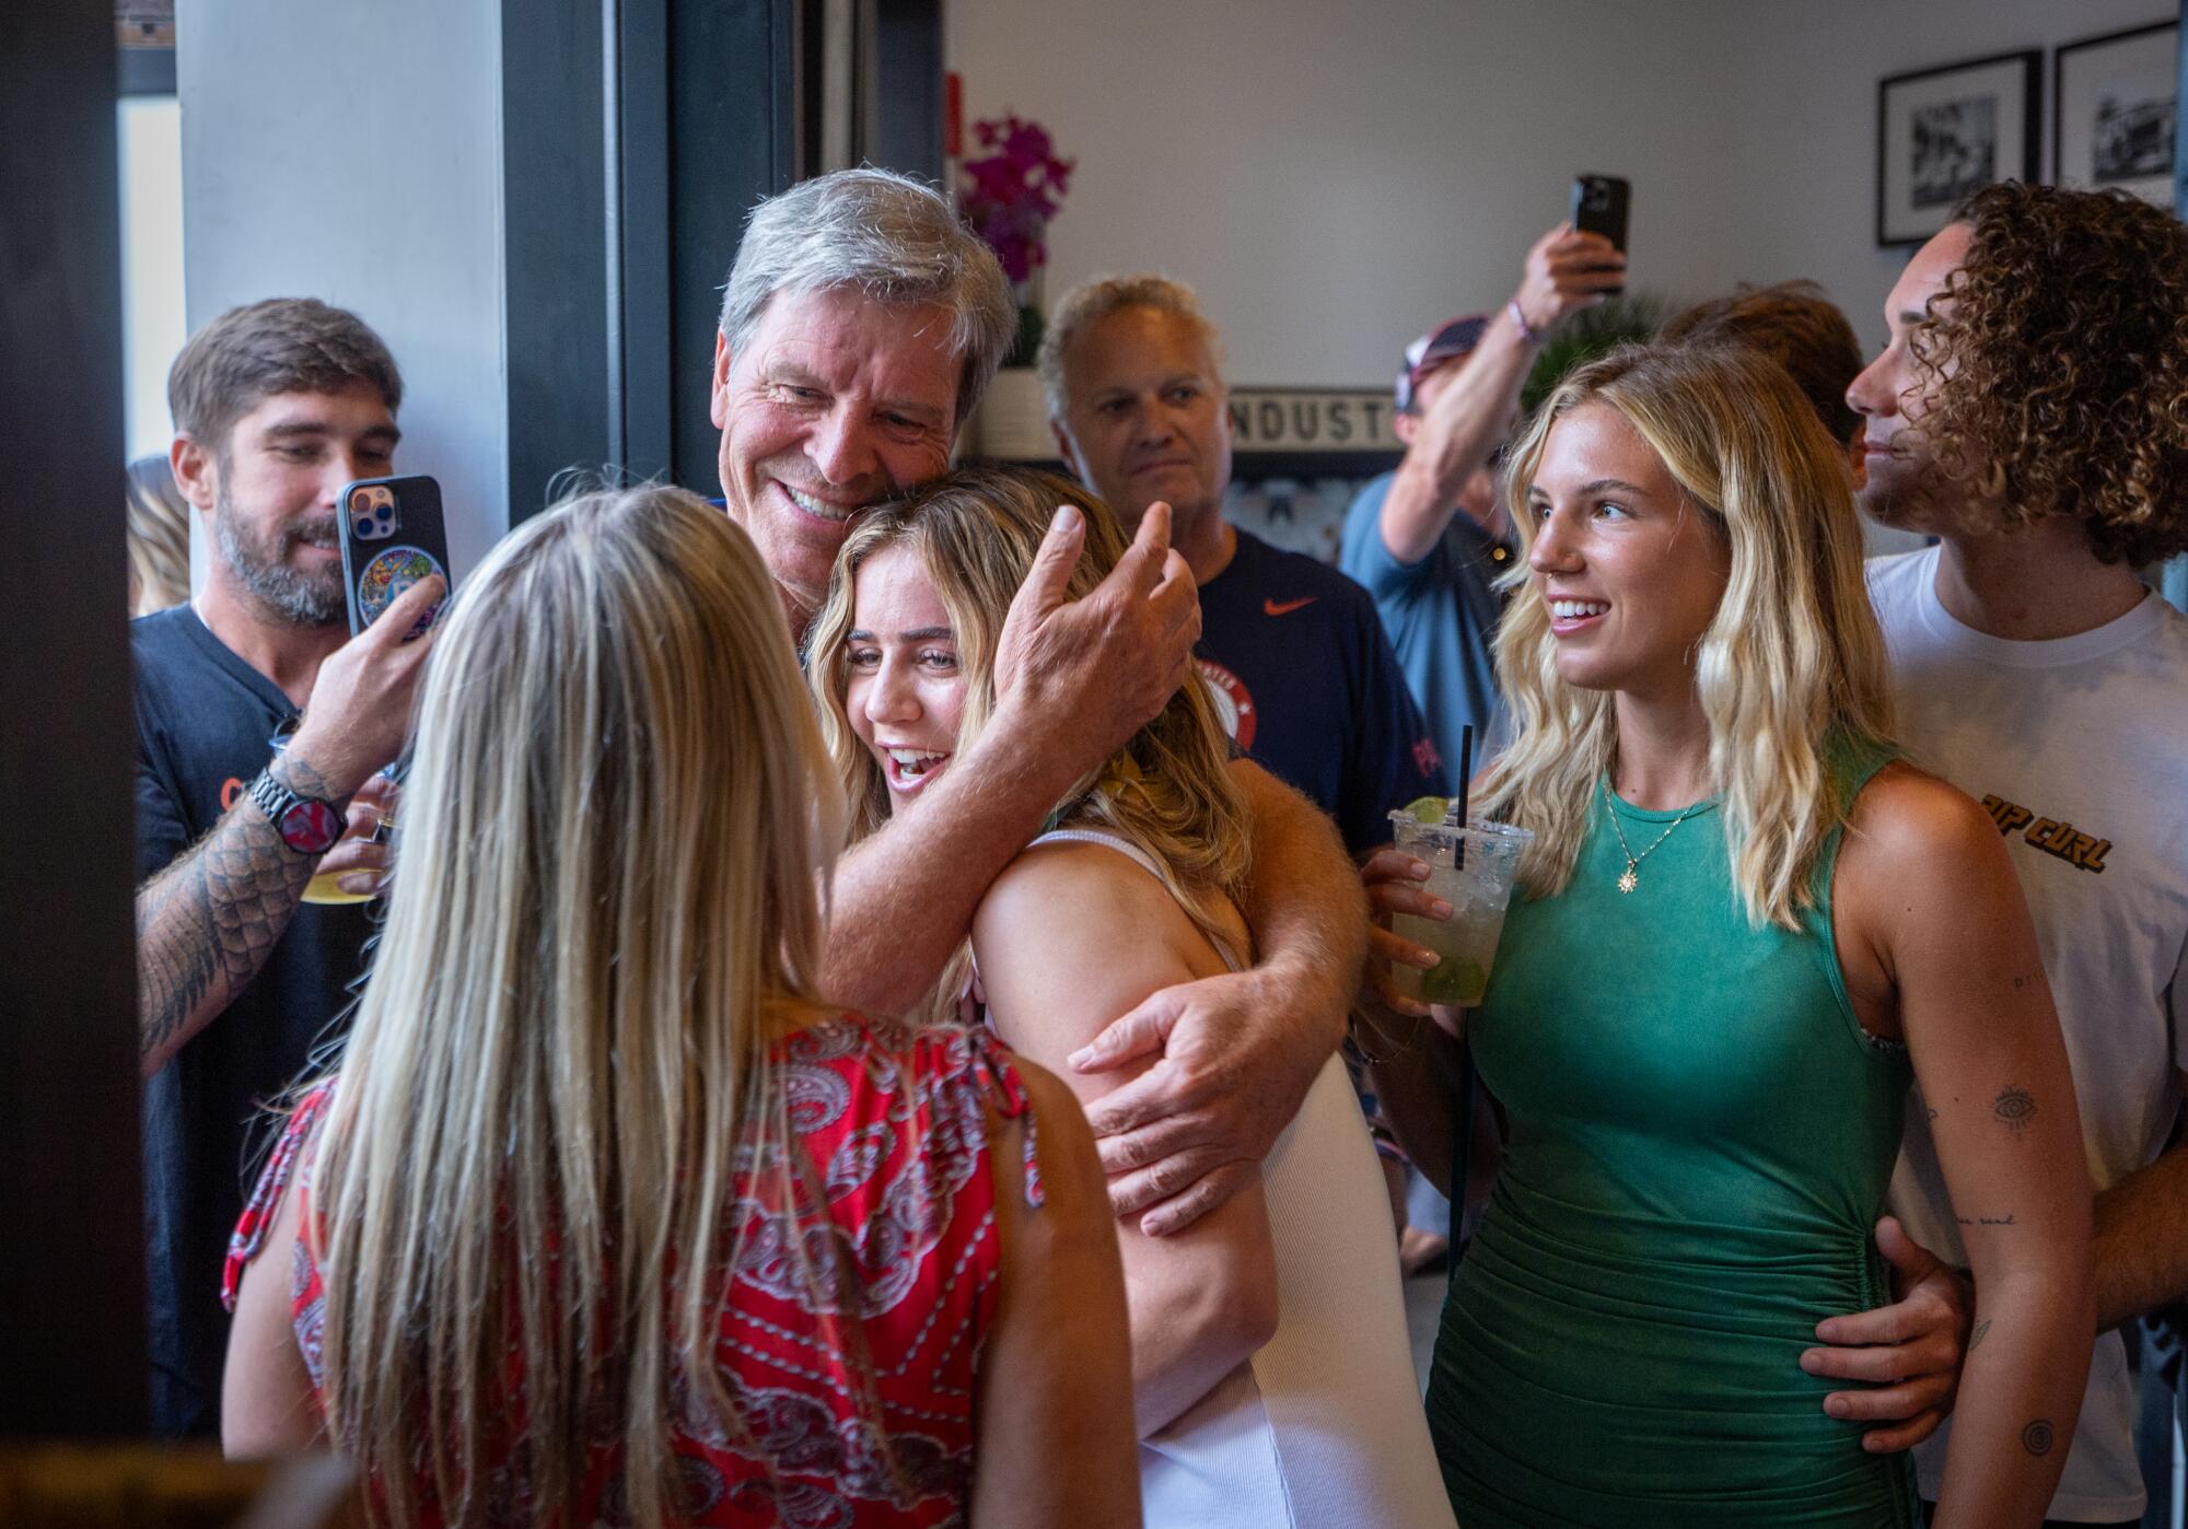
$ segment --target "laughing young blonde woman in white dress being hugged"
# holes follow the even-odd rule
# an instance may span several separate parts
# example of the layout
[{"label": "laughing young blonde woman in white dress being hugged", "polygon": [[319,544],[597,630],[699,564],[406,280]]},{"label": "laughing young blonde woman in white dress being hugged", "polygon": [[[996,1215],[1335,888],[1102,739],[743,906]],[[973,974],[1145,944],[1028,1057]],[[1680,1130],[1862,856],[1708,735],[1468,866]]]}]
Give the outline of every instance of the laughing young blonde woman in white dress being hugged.
[{"label": "laughing young blonde woman in white dress being hugged", "polygon": [[[851,532],[807,674],[853,833],[917,814],[980,737],[1004,615],[1066,505],[1087,518],[1079,597],[1125,540],[1044,472],[958,472]],[[1206,691],[1182,687],[993,884],[928,1017],[956,1024],[978,991],[1013,1050],[1061,1070],[1149,993],[1245,965],[1247,831],[1225,757]],[[1092,1100],[1133,1072],[1066,1076]],[[1335,1057],[1258,1188],[1184,1234],[1125,1223],[1120,1240],[1151,1525],[1448,1529],[1381,1175]]]}]

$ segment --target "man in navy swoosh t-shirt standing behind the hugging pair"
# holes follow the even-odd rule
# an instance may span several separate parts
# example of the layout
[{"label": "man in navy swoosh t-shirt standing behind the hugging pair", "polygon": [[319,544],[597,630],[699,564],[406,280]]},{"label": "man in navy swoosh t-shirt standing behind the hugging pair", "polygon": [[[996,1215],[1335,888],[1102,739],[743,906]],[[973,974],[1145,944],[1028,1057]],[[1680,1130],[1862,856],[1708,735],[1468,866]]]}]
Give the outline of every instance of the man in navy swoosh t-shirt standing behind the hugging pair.
[{"label": "man in navy swoosh t-shirt standing behind the hugging pair", "polygon": [[1429,726],[1368,591],[1223,518],[1232,431],[1217,330],[1160,276],[1085,282],[1041,339],[1063,459],[1127,532],[1151,503],[1201,586],[1201,676],[1241,752],[1322,805],[1354,855],[1392,807],[1446,794]]}]

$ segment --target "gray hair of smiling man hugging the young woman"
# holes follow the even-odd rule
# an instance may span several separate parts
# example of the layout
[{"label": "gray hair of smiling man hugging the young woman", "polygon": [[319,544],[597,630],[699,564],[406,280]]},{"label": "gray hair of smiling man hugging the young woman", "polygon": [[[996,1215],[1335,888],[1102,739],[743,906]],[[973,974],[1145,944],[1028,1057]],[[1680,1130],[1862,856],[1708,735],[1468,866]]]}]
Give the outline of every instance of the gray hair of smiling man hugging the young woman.
[{"label": "gray hair of smiling man hugging the young woman", "polygon": [[722,289],[731,352],[750,341],[775,293],[829,287],[858,287],[888,306],[950,308],[950,343],[965,359],[958,424],[1017,337],[1011,282],[993,252],[932,186],[893,171],[834,171],[753,208]]}]

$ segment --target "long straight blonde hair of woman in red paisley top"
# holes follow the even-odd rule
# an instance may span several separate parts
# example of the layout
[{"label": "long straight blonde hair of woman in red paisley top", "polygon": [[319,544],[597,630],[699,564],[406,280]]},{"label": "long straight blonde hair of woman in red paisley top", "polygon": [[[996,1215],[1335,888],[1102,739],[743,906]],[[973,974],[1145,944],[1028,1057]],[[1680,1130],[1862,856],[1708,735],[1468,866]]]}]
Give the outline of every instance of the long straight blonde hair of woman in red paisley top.
[{"label": "long straight blonde hair of woman in red paisley top", "polygon": [[792,1157],[768,1011],[816,995],[829,781],[775,586],[691,494],[562,503],[453,602],[315,1170],[328,1426],[392,1520],[422,1477],[451,1525],[569,1522],[619,1444],[659,1525],[674,1420],[742,1428],[698,1275],[740,1164]]}]

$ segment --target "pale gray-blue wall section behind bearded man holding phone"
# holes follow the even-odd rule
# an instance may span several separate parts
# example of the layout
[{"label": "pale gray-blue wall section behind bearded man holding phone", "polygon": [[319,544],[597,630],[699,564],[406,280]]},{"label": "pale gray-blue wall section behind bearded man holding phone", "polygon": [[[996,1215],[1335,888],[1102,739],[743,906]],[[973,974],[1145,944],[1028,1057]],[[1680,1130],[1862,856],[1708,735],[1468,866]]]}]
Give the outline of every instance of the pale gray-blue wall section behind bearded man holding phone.
[{"label": "pale gray-blue wall section behind bearded man holding phone", "polygon": [[396,468],[440,479],[470,569],[510,523],[501,7],[322,2],[304,24],[295,0],[179,0],[175,37],[190,328],[258,297],[372,324],[403,367]]}]

